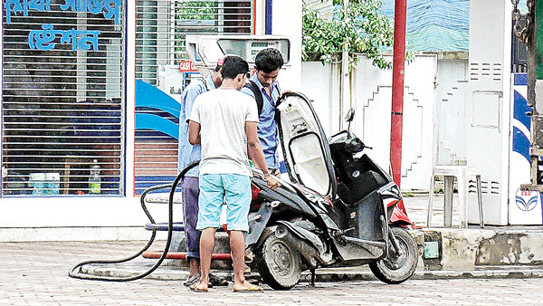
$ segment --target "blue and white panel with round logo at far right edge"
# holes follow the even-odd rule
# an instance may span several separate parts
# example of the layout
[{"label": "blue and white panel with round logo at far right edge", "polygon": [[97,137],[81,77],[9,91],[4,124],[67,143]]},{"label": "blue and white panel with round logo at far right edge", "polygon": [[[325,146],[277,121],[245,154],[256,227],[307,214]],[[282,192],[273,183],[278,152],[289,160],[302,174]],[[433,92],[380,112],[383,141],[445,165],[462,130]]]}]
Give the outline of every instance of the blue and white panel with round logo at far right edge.
[{"label": "blue and white panel with round logo at far right edge", "polygon": [[529,139],[531,122],[528,106],[528,74],[512,78],[511,150],[510,150],[510,225],[542,225],[543,195],[538,191],[521,190],[530,183]]}]

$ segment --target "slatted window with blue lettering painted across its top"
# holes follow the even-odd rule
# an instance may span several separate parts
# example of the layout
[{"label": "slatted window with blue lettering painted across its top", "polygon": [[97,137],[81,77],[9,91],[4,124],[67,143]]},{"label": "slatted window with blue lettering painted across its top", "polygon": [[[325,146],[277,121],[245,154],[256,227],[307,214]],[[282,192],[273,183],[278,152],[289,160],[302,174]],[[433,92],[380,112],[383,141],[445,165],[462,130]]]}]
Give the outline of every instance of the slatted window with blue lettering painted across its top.
[{"label": "slatted window with blue lettering painted across its top", "polygon": [[4,0],[2,12],[2,196],[122,195],[124,3]]}]

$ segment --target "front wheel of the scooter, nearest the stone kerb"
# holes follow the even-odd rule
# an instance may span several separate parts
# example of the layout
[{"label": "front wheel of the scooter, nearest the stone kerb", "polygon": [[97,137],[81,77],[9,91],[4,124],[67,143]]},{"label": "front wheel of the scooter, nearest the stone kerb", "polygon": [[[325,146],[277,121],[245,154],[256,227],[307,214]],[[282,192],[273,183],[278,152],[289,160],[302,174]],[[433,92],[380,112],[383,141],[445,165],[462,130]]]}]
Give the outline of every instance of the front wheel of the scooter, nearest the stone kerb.
[{"label": "front wheel of the scooter, nearest the stone kerb", "polygon": [[416,242],[413,236],[404,228],[392,227],[392,233],[398,241],[399,252],[389,250],[385,258],[369,263],[369,268],[381,282],[405,282],[405,280],[413,275],[414,269],[416,269]]}]

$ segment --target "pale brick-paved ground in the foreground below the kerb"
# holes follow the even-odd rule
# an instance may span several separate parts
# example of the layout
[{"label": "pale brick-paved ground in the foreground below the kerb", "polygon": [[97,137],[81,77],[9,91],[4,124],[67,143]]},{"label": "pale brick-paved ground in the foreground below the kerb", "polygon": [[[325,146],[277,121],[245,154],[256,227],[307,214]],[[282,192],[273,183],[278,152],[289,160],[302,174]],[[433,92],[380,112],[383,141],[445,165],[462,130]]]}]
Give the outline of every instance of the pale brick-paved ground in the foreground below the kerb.
[{"label": "pale brick-paved ground in the foreground below the kerb", "polygon": [[[398,285],[379,281],[304,280],[288,292],[235,293],[232,284],[207,293],[190,292],[161,275],[161,267],[134,282],[96,282],[68,276],[71,266],[90,259],[123,258],[145,242],[0,243],[0,305],[541,305],[543,278],[410,279]],[[164,241],[153,247],[163,247]],[[138,258],[131,264],[148,265]],[[131,271],[119,264],[118,269]],[[168,270],[172,270],[169,272]]]}]

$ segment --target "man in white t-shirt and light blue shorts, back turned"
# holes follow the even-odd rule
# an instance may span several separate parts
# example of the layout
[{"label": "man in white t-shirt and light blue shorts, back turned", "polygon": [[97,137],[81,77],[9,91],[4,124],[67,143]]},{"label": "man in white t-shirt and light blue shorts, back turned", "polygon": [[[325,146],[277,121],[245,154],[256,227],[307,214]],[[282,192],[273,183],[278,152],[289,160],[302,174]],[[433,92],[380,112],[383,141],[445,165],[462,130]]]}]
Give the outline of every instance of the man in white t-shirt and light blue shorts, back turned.
[{"label": "man in white t-shirt and light blue shorts, back turned", "polygon": [[200,196],[198,222],[200,238],[200,282],[190,289],[206,292],[209,266],[214,249],[214,233],[220,226],[221,206],[227,205],[226,222],[230,231],[233,260],[233,291],[262,291],[243,277],[245,241],[243,233],[249,229],[247,215],[251,205],[251,177],[249,165],[262,169],[268,186],[279,183],[271,177],[257,135],[258,113],[255,101],[239,90],[246,80],[249,65],[241,57],[224,59],[223,84],[195,99],[189,118],[188,141],[200,144]]}]

